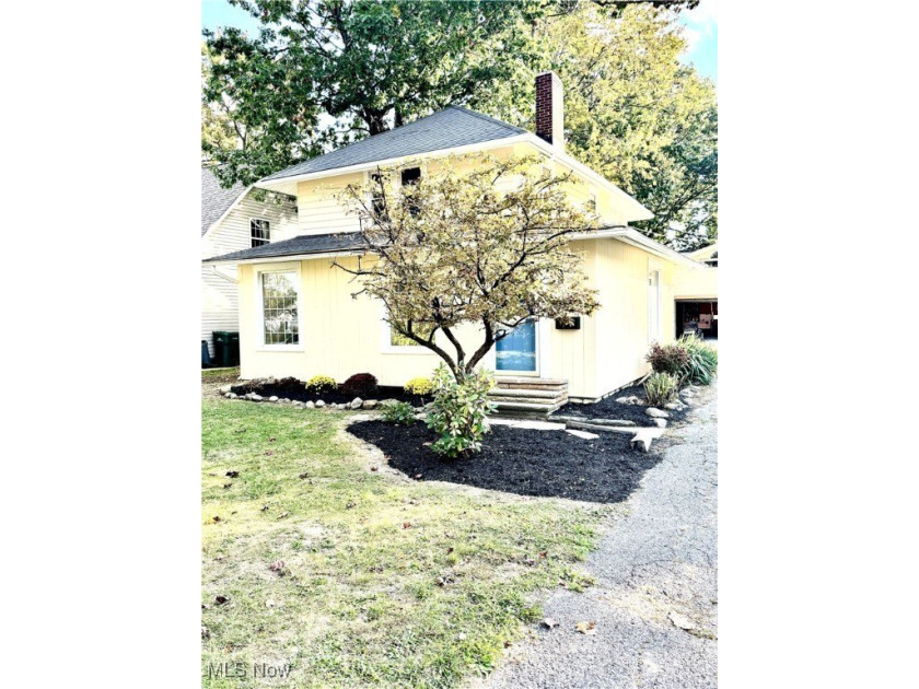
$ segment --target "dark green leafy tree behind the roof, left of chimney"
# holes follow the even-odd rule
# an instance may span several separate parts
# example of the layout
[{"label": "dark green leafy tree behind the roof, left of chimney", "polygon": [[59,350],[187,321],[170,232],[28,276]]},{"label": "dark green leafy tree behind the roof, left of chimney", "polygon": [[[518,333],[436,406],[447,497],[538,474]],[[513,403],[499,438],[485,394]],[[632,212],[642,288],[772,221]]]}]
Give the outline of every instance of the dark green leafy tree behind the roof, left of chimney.
[{"label": "dark green leafy tree behind the roof, left of chimney", "polygon": [[205,101],[232,103],[246,129],[241,149],[208,149],[228,183],[486,94],[512,77],[530,47],[520,27],[543,12],[534,1],[230,2],[263,28],[205,32],[219,57]]}]

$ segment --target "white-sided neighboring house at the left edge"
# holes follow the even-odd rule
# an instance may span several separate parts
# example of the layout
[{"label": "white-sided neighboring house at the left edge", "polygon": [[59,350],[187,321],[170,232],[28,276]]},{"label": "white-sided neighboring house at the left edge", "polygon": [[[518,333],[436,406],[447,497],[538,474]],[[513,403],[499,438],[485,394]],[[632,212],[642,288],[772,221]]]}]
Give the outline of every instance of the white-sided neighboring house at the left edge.
[{"label": "white-sided neighboring house at the left edge", "polygon": [[[201,258],[290,238],[296,223],[296,199],[256,198],[252,187],[229,189],[211,168],[201,167]],[[236,268],[201,264],[201,340],[214,357],[211,334],[239,330]]]}]

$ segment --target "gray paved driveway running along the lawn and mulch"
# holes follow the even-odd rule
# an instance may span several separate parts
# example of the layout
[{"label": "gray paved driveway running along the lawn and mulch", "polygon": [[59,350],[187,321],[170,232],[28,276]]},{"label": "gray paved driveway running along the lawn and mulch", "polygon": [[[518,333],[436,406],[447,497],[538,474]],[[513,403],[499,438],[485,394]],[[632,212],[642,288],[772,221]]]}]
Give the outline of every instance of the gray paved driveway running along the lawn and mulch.
[{"label": "gray paved driveway running along the lawn and mulch", "polygon": [[[716,382],[697,398],[690,422],[665,436],[664,459],[589,558],[596,585],[552,594],[545,616],[559,626],[540,626],[532,643],[510,649],[475,686],[717,686],[717,394]],[[591,621],[595,633],[575,631]]]}]

